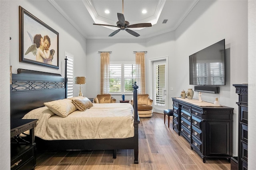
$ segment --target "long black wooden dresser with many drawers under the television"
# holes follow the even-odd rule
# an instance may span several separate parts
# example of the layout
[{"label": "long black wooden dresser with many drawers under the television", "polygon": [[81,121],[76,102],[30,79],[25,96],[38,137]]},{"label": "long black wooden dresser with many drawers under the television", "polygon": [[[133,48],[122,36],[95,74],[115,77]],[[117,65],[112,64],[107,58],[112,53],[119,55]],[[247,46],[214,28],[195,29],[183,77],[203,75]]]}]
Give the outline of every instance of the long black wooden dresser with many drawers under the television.
[{"label": "long black wooden dresser with many drawers under the television", "polygon": [[228,158],[230,161],[234,108],[197,106],[179,98],[172,98],[172,101],[173,129],[190,143],[203,162],[206,158]]}]

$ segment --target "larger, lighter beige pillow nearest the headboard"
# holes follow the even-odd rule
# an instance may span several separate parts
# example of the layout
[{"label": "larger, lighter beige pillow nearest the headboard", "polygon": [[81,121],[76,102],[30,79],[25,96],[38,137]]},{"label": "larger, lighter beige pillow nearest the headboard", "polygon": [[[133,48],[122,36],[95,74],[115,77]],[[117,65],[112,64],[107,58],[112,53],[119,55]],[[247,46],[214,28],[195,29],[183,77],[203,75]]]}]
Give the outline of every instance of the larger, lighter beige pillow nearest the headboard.
[{"label": "larger, lighter beige pillow nearest the headboard", "polygon": [[76,106],[72,103],[72,101],[68,99],[45,102],[44,106],[48,107],[52,112],[63,118],[67,117],[68,114],[77,110]]}]

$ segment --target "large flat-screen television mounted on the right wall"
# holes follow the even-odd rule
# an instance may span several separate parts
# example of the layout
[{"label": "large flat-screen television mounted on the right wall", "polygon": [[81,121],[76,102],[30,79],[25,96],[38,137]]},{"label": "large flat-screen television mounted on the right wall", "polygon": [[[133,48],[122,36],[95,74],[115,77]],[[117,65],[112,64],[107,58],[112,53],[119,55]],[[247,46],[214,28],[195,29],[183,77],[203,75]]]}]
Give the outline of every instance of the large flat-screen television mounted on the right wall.
[{"label": "large flat-screen television mounted on the right wall", "polygon": [[189,84],[225,85],[225,39],[189,56]]}]

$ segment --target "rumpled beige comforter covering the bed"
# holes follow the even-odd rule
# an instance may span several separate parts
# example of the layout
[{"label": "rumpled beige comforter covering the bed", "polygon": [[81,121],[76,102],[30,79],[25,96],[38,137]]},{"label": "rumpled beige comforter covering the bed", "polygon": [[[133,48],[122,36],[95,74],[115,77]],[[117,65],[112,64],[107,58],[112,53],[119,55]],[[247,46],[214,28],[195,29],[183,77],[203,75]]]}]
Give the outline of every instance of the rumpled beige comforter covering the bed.
[{"label": "rumpled beige comforter covering the bed", "polygon": [[46,106],[30,111],[24,119],[38,119],[35,135],[44,140],[129,138],[134,136],[133,107],[128,103],[93,104],[67,117]]}]

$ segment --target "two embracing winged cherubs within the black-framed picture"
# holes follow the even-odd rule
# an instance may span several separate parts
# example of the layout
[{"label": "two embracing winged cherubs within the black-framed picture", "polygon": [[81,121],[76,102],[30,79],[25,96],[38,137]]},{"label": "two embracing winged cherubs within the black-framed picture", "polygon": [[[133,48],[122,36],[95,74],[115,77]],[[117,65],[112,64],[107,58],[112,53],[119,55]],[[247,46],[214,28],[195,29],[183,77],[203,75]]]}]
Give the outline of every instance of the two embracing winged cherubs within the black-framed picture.
[{"label": "two embracing winged cherubs within the black-framed picture", "polygon": [[33,44],[25,52],[25,55],[32,52],[32,54],[36,56],[36,61],[46,64],[52,64],[55,50],[49,50],[51,45],[50,37],[46,35],[43,38],[41,34],[36,34],[33,38],[29,32],[28,35]]}]

